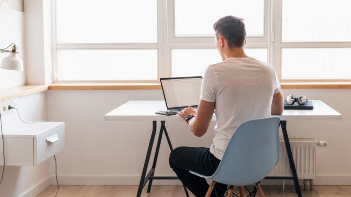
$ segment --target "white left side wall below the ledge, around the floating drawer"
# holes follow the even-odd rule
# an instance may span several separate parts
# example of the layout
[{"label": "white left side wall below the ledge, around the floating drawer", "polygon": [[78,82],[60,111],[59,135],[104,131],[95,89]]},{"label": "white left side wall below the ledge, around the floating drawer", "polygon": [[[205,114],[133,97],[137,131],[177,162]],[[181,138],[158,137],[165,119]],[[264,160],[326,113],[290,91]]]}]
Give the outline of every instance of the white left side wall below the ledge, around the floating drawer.
[{"label": "white left side wall below the ledge, around the floating drawer", "polygon": [[[18,103],[17,108],[24,121],[46,119],[47,102],[45,92],[19,97],[15,100]],[[2,124],[5,128],[9,124],[15,126],[19,122],[18,115],[14,110],[2,116]],[[0,145],[2,146],[2,141]],[[2,157],[2,152],[0,156]],[[0,185],[0,197],[36,196],[49,185],[48,168],[48,161],[36,166],[5,166],[4,180]],[[0,175],[1,172],[2,163],[0,164]]]}]

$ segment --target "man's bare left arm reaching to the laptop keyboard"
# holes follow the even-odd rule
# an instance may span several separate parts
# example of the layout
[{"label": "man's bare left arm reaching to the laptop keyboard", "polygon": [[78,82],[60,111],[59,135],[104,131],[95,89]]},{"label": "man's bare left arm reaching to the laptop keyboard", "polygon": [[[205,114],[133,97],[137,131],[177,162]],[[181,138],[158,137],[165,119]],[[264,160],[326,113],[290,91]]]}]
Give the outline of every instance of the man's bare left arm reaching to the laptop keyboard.
[{"label": "man's bare left arm reaching to the laptop keyboard", "polygon": [[194,114],[195,117],[191,118],[188,123],[191,132],[198,137],[203,136],[210,125],[213,111],[214,111],[215,102],[207,102],[204,100],[200,100],[199,106],[197,110],[194,110],[192,107],[188,107],[182,110],[182,112],[178,113],[184,119],[190,115]]}]

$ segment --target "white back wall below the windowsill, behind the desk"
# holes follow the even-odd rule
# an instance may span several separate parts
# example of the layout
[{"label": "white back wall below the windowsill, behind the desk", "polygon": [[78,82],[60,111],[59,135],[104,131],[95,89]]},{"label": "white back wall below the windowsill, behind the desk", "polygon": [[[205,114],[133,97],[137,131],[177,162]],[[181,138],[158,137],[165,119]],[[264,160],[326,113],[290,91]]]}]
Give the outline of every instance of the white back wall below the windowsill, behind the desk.
[{"label": "white back wall below the windowsill, behind the desk", "polygon": [[[347,103],[351,90],[298,89],[283,93],[321,99],[343,115],[342,121],[288,122],[287,128],[290,136],[328,141],[328,147],[317,150],[315,184],[350,185],[351,107]],[[107,122],[104,114],[128,100],[162,100],[161,90],[49,90],[47,96],[48,120],[66,122],[66,146],[57,155],[61,184],[138,184],[152,123]],[[166,125],[173,147],[209,147],[212,143],[214,123],[201,138],[193,136],[185,122],[166,122]],[[163,138],[156,175],[174,175],[168,166],[169,153]],[[53,176],[53,163],[50,165]],[[51,181],[55,183],[53,177]]]}]

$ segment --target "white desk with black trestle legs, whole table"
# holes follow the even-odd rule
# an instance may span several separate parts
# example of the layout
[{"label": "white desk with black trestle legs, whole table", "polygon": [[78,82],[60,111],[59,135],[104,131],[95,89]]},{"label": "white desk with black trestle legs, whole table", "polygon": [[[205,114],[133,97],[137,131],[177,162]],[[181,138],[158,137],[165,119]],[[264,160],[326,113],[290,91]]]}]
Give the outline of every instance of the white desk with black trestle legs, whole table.
[{"label": "white desk with black trestle legs, whole table", "polygon": [[[291,110],[291,109],[284,110],[283,114],[278,116],[280,118],[280,125],[282,126],[284,139],[289,139],[287,135],[287,130],[286,130],[286,121],[341,120],[341,114],[339,114],[333,108],[329,107],[324,102],[320,100],[313,100],[312,102],[314,105],[313,110]],[[166,108],[165,101],[163,100],[162,101],[128,101],[122,104],[120,107],[112,110],[111,112],[105,115],[105,121],[153,121],[153,130],[152,130],[151,139],[150,139],[150,143],[146,154],[143,172],[140,178],[137,197],[140,197],[141,190],[143,189],[147,181],[150,181],[147,189],[147,192],[150,192],[153,179],[176,179],[177,178],[177,177],[153,176],[163,132],[165,133],[170,149],[173,150],[170,138],[168,137],[168,133],[166,130],[165,121],[184,121],[183,118],[180,117],[179,115],[164,116],[164,115],[155,114],[156,111],[165,111],[165,110],[167,110],[167,108]],[[212,121],[215,121],[215,120],[216,120],[216,115],[213,114]],[[157,147],[156,147],[156,152],[154,157],[155,159],[153,161],[151,170],[146,175],[146,170],[147,170],[147,166],[151,155],[151,149],[155,139],[157,121],[161,121],[161,130],[160,130],[160,134],[157,142]],[[285,140],[285,147],[287,150],[293,177],[282,177],[282,178],[293,179],[296,192],[300,197],[302,195],[300,191],[298,177],[296,174],[295,164],[291,153],[289,140]],[[279,179],[279,177],[266,177],[266,178]],[[186,191],[186,194],[187,194],[187,191]]]}]

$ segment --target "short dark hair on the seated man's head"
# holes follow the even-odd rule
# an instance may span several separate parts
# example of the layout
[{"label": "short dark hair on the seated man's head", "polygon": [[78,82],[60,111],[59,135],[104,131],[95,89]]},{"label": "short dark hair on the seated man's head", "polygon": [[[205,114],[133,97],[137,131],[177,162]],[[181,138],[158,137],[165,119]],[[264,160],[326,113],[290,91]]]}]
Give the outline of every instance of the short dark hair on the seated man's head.
[{"label": "short dark hair on the seated man's head", "polygon": [[236,16],[224,16],[213,24],[216,36],[223,36],[229,48],[243,47],[246,30],[244,20]]}]

